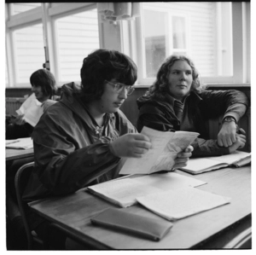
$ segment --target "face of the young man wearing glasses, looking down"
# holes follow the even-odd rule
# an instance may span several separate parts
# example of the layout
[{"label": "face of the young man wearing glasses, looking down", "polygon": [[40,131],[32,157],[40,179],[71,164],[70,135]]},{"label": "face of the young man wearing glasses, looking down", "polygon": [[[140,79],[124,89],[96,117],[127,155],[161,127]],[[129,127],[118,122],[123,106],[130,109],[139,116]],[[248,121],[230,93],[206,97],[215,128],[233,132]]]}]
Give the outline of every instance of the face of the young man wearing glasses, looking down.
[{"label": "face of the young man wearing glasses, looking down", "polygon": [[[117,81],[111,79],[110,82],[115,84]],[[119,107],[123,104],[127,98],[127,91],[121,90],[119,93],[113,88],[113,85],[108,82],[104,86],[104,92],[98,101],[96,101],[97,110],[100,113],[115,113],[118,111]]]}]

